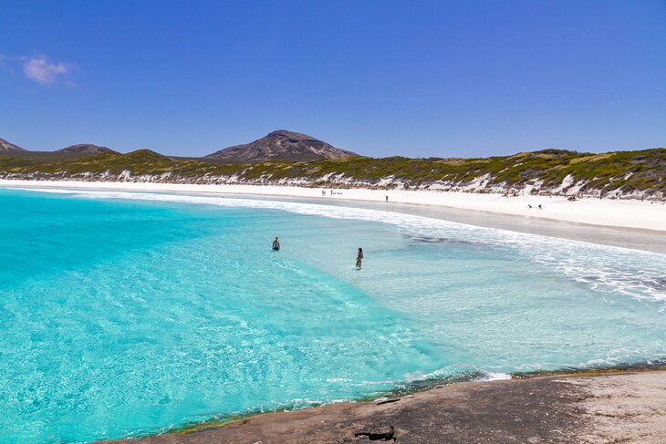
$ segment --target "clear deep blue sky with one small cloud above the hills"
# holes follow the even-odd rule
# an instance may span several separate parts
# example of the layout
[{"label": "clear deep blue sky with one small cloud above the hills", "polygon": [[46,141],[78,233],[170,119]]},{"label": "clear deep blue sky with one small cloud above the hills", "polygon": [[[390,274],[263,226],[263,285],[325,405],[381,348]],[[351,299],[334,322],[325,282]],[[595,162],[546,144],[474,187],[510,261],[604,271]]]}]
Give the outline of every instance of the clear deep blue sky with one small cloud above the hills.
[{"label": "clear deep blue sky with one small cloud above the hills", "polygon": [[666,2],[0,1],[0,138],[203,155],[666,146]]}]

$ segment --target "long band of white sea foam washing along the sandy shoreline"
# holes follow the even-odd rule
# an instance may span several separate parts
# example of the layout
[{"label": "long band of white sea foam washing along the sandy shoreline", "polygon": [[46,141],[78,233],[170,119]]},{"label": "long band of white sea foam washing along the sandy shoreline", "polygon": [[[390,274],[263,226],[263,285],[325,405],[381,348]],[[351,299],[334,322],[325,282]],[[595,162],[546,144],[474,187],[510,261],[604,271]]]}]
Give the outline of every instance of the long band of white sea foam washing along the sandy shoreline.
[{"label": "long band of white sea foam washing along the sandy shoreline", "polygon": [[[411,235],[448,238],[453,242],[485,244],[489,247],[512,248],[515,254],[546,265],[569,278],[588,285],[599,293],[622,294],[638,300],[666,303],[666,254],[631,250],[617,246],[599,245],[566,240],[538,234],[510,232],[502,229],[476,227],[459,222],[443,221],[400,212],[385,212],[363,208],[333,206],[295,201],[224,198],[201,195],[131,192],[81,191],[65,188],[30,188],[59,194],[72,194],[86,199],[120,199],[139,201],[168,201],[231,208],[255,208],[294,212],[298,214],[381,222],[399,227]],[[666,305],[661,306],[661,310]]]}]

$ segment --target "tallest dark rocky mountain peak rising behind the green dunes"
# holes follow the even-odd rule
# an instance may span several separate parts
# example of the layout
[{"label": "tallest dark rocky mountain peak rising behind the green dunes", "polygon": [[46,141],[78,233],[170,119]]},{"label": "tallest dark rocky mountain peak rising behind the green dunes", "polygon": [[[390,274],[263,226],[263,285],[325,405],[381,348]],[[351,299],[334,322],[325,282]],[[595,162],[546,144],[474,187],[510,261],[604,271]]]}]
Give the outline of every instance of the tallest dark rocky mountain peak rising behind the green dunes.
[{"label": "tallest dark rocky mountain peak rising behind the green dunes", "polygon": [[286,130],[273,131],[265,138],[245,145],[235,145],[205,156],[230,163],[260,162],[265,160],[305,161],[340,159],[358,154],[339,150],[307,134]]}]

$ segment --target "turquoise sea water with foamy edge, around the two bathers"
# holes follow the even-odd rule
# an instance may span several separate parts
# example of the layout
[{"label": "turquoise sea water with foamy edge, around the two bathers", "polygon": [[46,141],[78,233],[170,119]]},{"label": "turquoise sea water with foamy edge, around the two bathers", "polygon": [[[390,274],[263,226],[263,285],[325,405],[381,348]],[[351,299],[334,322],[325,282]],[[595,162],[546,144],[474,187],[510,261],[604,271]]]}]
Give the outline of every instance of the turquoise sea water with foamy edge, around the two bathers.
[{"label": "turquoise sea water with foamy edge, around the two bathers", "polygon": [[2,442],[666,357],[666,255],[392,212],[0,189],[0,263]]}]

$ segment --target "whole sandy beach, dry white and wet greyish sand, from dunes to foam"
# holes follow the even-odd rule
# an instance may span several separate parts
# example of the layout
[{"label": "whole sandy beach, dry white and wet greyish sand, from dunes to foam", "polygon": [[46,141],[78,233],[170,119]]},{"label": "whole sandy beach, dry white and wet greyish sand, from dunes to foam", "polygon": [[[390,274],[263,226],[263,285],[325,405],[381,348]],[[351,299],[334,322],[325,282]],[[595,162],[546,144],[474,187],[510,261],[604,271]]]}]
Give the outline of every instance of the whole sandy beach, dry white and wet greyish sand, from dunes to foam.
[{"label": "whole sandy beach, dry white and wet greyish sand, from dunes to foam", "polygon": [[[464,192],[402,191],[402,194],[405,194],[405,198],[402,201],[391,199],[390,202],[386,202],[384,201],[384,195],[387,191],[361,189],[346,190],[340,195],[322,196],[319,189],[256,185],[0,180],[0,187],[18,187],[33,190],[67,189],[75,191],[175,192],[195,196],[208,195],[225,198],[297,201],[386,212],[401,212],[480,227],[499,228],[513,232],[528,232],[589,243],[644,250],[653,253],[666,253],[665,202],[650,203],[598,199],[568,202],[566,199],[558,197],[534,197],[534,199],[544,202],[557,201],[560,206],[564,205],[564,208],[568,210],[576,209],[575,215],[577,218],[565,220],[558,219],[558,213],[549,210],[550,203],[547,203],[548,210],[538,211],[532,209],[525,211],[526,196],[523,196],[523,198],[504,198],[498,195],[477,195]],[[477,201],[479,205],[463,205],[465,199]],[[530,197],[529,199],[533,198]],[[501,205],[500,207],[496,207],[496,205],[495,207],[492,205],[482,205],[481,203],[486,200],[494,201],[495,204],[501,203]],[[532,201],[532,203],[536,206],[536,201]],[[604,209],[602,213],[605,214],[608,220],[599,221],[588,217],[588,215],[597,212],[599,205]],[[643,221],[643,212],[645,211],[650,212],[658,221],[656,225],[649,224],[652,229],[638,228],[634,226],[636,224],[629,223],[637,222],[640,227]],[[616,220],[614,218],[619,219]],[[628,218],[631,221],[628,221]],[[625,226],[622,226],[623,222],[621,221],[627,222],[624,223]]]}]

